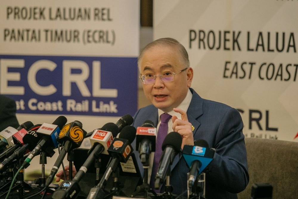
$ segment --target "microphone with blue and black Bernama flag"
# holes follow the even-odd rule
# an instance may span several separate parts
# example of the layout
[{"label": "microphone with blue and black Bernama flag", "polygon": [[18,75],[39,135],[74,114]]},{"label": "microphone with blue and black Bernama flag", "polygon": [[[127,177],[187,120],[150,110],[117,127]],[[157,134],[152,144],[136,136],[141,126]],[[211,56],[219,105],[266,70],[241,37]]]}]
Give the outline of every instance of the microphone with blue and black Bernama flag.
[{"label": "microphone with blue and black Bernama flag", "polygon": [[183,148],[183,158],[190,167],[188,187],[191,189],[195,179],[210,164],[214,158],[215,149],[209,149],[205,140],[197,140],[195,146],[185,145]]}]

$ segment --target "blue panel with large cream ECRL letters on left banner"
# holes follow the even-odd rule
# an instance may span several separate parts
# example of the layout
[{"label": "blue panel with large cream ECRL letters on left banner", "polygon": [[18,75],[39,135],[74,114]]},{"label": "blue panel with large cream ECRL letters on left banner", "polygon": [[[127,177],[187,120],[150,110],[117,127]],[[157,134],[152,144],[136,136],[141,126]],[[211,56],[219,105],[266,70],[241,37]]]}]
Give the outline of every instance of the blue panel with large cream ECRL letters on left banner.
[{"label": "blue panel with large cream ECRL letters on left banner", "polygon": [[0,55],[0,94],[17,113],[134,115],[137,58]]}]

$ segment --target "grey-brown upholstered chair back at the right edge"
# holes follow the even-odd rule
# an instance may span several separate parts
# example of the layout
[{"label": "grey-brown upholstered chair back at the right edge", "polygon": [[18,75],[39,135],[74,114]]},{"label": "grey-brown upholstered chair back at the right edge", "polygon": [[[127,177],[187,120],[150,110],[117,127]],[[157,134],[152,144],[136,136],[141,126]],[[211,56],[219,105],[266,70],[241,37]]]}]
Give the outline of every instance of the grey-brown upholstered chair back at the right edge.
[{"label": "grey-brown upholstered chair back at the right edge", "polygon": [[249,199],[254,183],[270,183],[273,199],[298,198],[298,143],[245,138],[249,184],[239,199]]}]

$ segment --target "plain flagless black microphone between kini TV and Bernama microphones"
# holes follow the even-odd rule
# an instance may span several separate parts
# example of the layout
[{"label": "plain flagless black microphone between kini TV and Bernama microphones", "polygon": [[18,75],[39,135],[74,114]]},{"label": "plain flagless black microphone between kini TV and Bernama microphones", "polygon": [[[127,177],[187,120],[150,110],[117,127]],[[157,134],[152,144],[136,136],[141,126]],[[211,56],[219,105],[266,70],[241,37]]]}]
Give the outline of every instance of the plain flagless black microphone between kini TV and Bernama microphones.
[{"label": "plain flagless black microphone between kini TV and Bernama microphones", "polygon": [[159,186],[164,182],[170,165],[181,150],[181,144],[182,137],[177,132],[170,132],[164,138],[164,142],[162,143],[162,157],[160,158],[155,176],[155,189],[159,189]]}]

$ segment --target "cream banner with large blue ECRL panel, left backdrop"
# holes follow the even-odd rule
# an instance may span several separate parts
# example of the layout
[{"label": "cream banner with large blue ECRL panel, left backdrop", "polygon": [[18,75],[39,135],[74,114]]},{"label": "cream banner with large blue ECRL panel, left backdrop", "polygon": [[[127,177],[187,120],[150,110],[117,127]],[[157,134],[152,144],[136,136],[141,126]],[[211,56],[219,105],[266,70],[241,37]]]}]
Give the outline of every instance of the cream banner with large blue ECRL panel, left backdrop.
[{"label": "cream banner with large blue ECRL panel, left backdrop", "polygon": [[89,132],[136,112],[139,1],[10,0],[0,13],[0,94],[20,123],[65,115]]}]

